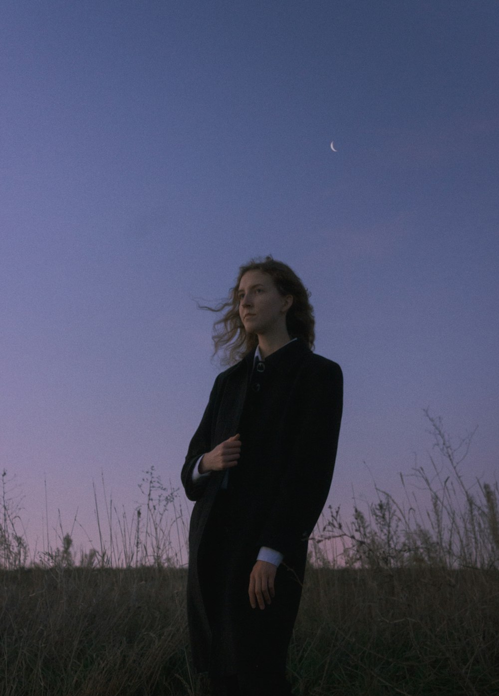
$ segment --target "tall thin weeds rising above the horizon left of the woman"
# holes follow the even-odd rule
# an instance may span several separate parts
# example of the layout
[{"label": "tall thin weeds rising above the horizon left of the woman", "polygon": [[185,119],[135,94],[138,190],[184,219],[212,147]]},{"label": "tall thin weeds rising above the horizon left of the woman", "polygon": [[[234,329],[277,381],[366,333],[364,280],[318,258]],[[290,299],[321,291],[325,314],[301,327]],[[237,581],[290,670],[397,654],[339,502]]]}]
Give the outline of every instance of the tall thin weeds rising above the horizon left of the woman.
[{"label": "tall thin weeds rising above the horizon left of the woman", "polygon": [[[155,467],[143,472],[138,484],[141,501],[130,511],[118,507],[106,495],[102,476],[100,489],[93,482],[94,514],[97,543],[88,538],[88,547],[74,549],[73,532],[78,521],[66,530],[58,515],[54,531],[57,544],[49,541],[43,529],[43,548],[31,553],[26,530],[22,524],[19,496],[13,494],[15,482],[3,470],[0,499],[0,569],[25,567],[72,568],[157,568],[187,566],[188,515],[179,489],[166,487]],[[83,528],[82,528],[83,529]]]}]

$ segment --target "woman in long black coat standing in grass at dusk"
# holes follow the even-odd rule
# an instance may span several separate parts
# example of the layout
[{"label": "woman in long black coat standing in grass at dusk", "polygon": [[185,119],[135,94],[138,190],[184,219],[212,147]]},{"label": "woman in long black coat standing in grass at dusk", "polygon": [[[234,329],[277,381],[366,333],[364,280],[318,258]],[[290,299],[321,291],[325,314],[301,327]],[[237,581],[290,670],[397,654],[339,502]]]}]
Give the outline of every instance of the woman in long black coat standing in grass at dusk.
[{"label": "woman in long black coat standing in grass at dusk", "polygon": [[324,507],[342,414],[339,365],[312,353],[308,292],[267,256],[215,311],[216,378],[182,483],[195,500],[187,612],[216,696],[288,696],[287,647],[308,537]]}]

